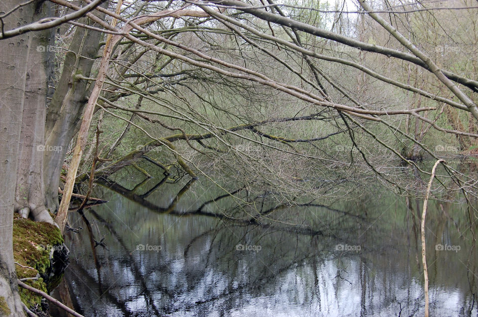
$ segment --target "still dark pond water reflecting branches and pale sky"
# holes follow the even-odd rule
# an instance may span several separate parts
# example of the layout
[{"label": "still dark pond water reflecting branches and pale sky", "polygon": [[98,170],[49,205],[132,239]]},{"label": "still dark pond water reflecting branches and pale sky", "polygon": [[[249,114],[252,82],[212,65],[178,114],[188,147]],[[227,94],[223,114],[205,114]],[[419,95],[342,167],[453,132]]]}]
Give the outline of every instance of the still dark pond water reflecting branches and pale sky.
[{"label": "still dark pond water reflecting branches and pale sky", "polygon": [[[128,185],[98,186],[109,202],[70,216],[83,229],[68,232],[65,280],[86,317],[424,315],[421,201],[370,188],[274,208],[262,193],[254,212],[264,218],[249,222],[252,209],[238,206],[250,193]],[[430,202],[430,316],[478,315],[467,217],[464,204]]]}]

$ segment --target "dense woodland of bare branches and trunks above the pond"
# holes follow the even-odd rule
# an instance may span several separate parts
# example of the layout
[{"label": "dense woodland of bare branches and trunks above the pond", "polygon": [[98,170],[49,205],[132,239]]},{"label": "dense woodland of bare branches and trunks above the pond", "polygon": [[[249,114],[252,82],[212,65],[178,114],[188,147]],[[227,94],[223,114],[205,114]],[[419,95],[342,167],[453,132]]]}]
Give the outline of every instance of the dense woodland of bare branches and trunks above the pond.
[{"label": "dense woodland of bare branches and trunks above the pond", "polygon": [[249,221],[234,188],[294,206],[368,184],[476,220],[476,1],[3,0],[0,23],[5,316],[13,213],[63,232],[115,173],[208,179]]}]

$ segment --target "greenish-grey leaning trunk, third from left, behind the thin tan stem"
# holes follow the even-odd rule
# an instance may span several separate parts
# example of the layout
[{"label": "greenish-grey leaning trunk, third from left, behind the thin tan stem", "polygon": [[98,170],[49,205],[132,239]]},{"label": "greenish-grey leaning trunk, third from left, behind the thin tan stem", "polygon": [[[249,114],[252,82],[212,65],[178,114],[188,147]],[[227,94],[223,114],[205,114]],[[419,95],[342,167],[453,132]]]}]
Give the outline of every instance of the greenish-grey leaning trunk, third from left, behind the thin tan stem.
[{"label": "greenish-grey leaning trunk, third from left, behind the thin tan stem", "polygon": [[[106,1],[102,6],[107,7],[108,2]],[[103,17],[104,14],[101,18]],[[80,22],[95,25],[86,17],[80,19]],[[61,168],[68,145],[77,132],[77,124],[90,95],[91,87],[88,81],[76,79],[75,75],[90,76],[102,38],[103,34],[100,32],[84,28],[76,29],[69,52],[65,57],[61,78],[48,108],[45,148],[59,150],[45,152],[43,161],[46,207],[51,212],[58,210]]]}]

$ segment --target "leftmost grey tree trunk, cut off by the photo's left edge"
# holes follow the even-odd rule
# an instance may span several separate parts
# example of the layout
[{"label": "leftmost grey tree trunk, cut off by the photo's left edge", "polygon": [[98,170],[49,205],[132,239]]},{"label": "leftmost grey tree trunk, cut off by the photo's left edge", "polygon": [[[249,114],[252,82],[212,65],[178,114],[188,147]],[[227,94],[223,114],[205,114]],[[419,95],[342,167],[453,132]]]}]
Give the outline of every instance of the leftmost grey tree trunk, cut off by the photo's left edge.
[{"label": "leftmost grey tree trunk, cut off by the photo's left edge", "polygon": [[[0,12],[8,12],[22,0],[0,1]],[[3,18],[5,30],[27,24],[34,13],[26,5]],[[13,260],[13,204],[19,157],[21,119],[29,54],[29,34],[0,41],[0,315],[25,316],[18,295]]]}]

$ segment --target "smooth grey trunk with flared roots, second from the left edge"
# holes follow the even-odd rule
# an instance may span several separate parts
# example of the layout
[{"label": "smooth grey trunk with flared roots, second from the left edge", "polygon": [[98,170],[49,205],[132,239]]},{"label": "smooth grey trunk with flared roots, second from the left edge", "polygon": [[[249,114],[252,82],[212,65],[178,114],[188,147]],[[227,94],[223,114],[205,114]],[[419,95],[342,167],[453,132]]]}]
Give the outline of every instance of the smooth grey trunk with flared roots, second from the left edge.
[{"label": "smooth grey trunk with flared roots, second from the left edge", "polygon": [[[51,2],[44,2],[35,9],[33,20],[52,15]],[[21,118],[19,163],[15,190],[15,209],[22,217],[31,216],[35,221],[54,224],[45,207],[43,186],[43,156],[46,152],[57,153],[57,147],[44,147],[46,96],[53,54],[49,48],[53,30],[29,34],[30,45],[26,62],[26,83]]]}]

